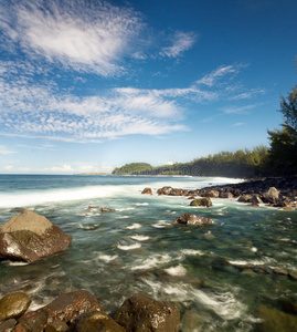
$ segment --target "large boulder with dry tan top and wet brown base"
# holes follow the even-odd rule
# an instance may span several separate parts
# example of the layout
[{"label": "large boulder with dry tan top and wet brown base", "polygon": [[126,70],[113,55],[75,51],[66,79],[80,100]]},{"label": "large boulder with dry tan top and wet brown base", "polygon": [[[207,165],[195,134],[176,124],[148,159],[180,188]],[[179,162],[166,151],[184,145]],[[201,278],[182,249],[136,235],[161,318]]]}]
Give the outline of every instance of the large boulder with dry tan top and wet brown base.
[{"label": "large boulder with dry tan top and wet brown base", "polygon": [[32,262],[65,250],[72,236],[31,210],[13,216],[0,227],[0,260]]}]

